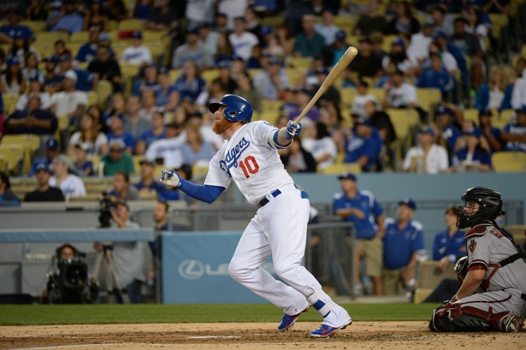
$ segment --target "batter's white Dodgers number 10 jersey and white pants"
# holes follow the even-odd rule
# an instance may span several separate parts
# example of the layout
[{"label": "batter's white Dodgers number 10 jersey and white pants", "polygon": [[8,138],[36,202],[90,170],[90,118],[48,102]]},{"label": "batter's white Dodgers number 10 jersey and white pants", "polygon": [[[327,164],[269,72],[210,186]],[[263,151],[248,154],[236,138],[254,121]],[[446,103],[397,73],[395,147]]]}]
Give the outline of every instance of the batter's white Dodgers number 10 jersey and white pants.
[{"label": "batter's white Dodgers number 10 jersey and white pants", "polygon": [[[228,188],[234,180],[250,203],[268,200],[241,236],[229,273],[286,314],[295,315],[307,308],[306,297],[312,293],[316,292],[326,304],[331,299],[315,277],[300,265],[305,253],[310,204],[302,198],[278,156],[277,149],[285,147],[274,142],[276,131],[266,121],[241,126],[210,161],[205,185]],[[274,271],[285,283],[261,269],[270,254]],[[349,314],[336,305],[323,323],[340,327],[348,320]]]}]

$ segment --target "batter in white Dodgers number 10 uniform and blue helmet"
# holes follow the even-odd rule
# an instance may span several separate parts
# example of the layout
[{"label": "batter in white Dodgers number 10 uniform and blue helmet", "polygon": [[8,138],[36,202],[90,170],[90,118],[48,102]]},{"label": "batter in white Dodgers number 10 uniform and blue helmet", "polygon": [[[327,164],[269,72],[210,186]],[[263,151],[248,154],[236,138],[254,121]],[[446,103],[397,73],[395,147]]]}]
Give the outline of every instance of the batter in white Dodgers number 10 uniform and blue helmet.
[{"label": "batter in white Dodgers number 10 uniform and blue helmet", "polygon": [[[230,276],[252,292],[285,311],[279,331],[287,331],[310,305],[323,317],[313,337],[328,337],[351,324],[347,311],[323,292],[320,283],[301,266],[307,238],[310,204],[285,170],[279,149],[285,149],[301,132],[289,121],[277,129],[266,121],[253,121],[252,107],[242,97],[225,95],[208,105],[216,120],[215,133],[225,134],[210,161],[204,185],[179,178],[163,169],[160,182],[176,186],[190,197],[211,203],[234,180],[248,202],[259,209],[243,232],[230,261]],[[284,282],[261,269],[272,254],[274,271]]]}]

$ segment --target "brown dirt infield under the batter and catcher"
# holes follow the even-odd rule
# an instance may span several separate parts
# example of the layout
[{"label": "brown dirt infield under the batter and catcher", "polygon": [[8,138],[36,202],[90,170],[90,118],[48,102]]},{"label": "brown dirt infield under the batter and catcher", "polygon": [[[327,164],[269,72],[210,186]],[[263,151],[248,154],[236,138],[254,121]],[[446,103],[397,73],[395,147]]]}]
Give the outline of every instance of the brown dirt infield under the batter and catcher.
[{"label": "brown dirt infield under the batter and catcher", "polygon": [[265,348],[293,349],[520,349],[524,335],[504,333],[436,334],[427,322],[354,322],[328,339],[313,339],[308,331],[318,323],[298,322],[289,332],[277,323],[180,323],[8,326],[0,328],[0,349],[149,349]]}]

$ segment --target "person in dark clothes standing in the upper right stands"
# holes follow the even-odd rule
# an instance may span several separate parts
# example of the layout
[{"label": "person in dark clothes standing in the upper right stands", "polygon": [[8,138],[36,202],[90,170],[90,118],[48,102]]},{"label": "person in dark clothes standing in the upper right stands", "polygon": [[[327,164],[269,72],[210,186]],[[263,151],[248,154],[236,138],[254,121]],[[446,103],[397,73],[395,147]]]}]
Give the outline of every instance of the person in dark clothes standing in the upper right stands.
[{"label": "person in dark clothes standing in the upper right stands", "polygon": [[473,34],[466,32],[468,21],[465,18],[457,18],[454,22],[454,32],[450,42],[456,45],[464,57],[471,59],[471,85],[477,89],[482,78],[482,49],[479,39]]}]

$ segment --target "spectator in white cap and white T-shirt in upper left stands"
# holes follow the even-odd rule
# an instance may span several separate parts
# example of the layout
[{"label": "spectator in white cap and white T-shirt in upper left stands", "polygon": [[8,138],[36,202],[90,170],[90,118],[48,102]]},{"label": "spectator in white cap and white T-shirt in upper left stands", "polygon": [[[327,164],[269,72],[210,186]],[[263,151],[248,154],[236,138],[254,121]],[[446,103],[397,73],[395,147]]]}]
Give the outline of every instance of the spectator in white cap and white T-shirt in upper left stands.
[{"label": "spectator in white cap and white T-shirt in upper left stands", "polygon": [[88,95],[84,91],[75,89],[77,74],[74,70],[66,71],[64,75],[64,90],[55,92],[51,96],[50,110],[57,116],[66,115],[69,117],[69,125],[75,125],[84,113],[84,108],[88,105]]}]

